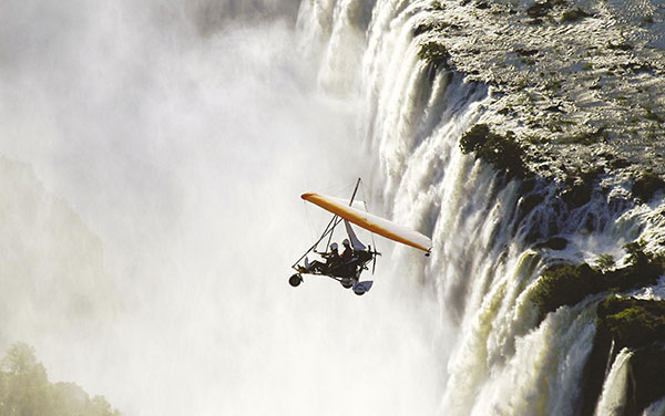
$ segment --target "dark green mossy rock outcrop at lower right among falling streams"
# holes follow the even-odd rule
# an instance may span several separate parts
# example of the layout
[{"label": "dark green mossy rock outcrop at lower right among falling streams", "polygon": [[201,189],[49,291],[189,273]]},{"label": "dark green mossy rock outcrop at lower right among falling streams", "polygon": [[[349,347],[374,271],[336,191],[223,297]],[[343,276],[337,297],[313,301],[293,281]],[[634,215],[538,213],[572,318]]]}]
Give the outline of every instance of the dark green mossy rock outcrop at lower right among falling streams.
[{"label": "dark green mossy rock outcrop at lower right among falling streams", "polygon": [[[626,291],[656,284],[665,273],[665,257],[646,253],[642,241],[624,246],[627,264],[614,269],[612,256],[598,257],[596,267],[554,264],[539,279],[533,301],[541,319],[561,305],[573,305],[590,294]],[[665,302],[610,294],[597,304],[596,334],[584,367],[580,415],[593,415],[606,375],[618,351],[632,350],[631,379],[624,413],[638,415],[665,395]]]}]

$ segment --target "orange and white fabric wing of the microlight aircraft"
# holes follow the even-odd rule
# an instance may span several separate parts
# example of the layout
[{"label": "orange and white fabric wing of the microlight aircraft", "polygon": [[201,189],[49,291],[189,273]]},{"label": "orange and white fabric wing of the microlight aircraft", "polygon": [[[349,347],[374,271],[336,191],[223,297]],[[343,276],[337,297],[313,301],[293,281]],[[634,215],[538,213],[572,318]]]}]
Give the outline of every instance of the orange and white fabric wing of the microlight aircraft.
[{"label": "orange and white fabric wing of the microlight aircraft", "polygon": [[402,245],[411,246],[428,252],[432,247],[432,240],[430,240],[429,237],[389,221],[385,218],[377,217],[354,207],[349,207],[348,204],[345,204],[341,199],[313,193],[303,194],[300,198],[314,205],[318,205],[325,210],[354,222],[358,227],[362,227],[366,230],[378,233],[379,236],[383,236],[393,241],[401,242]]}]

